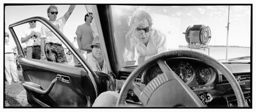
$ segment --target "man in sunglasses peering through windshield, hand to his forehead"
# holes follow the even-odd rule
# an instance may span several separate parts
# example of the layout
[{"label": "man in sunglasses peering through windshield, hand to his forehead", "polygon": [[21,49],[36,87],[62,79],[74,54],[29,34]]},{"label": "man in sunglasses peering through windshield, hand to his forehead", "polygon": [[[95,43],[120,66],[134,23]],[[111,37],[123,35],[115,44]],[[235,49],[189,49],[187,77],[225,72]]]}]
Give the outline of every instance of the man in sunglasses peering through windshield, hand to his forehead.
[{"label": "man in sunglasses peering through windshield, hand to his forehead", "polygon": [[168,51],[166,36],[152,28],[152,17],[145,11],[137,11],[131,20],[131,28],[125,41],[125,61],[141,64],[156,54]]}]

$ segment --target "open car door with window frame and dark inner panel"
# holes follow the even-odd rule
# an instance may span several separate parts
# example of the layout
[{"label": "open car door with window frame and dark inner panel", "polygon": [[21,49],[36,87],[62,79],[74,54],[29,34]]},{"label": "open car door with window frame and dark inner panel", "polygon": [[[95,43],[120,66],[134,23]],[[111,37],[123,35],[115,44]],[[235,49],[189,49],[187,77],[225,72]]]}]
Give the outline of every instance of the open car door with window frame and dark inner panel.
[{"label": "open car door with window frame and dark inner panel", "polygon": [[[73,66],[27,58],[18,32],[22,25],[28,24],[29,21],[37,21],[47,26],[81,65]],[[9,25],[9,30],[17,45],[17,59],[25,80],[23,87],[32,106],[90,107],[93,104],[100,87],[99,75],[87,66],[81,54],[52,23],[42,17],[31,17]]]}]

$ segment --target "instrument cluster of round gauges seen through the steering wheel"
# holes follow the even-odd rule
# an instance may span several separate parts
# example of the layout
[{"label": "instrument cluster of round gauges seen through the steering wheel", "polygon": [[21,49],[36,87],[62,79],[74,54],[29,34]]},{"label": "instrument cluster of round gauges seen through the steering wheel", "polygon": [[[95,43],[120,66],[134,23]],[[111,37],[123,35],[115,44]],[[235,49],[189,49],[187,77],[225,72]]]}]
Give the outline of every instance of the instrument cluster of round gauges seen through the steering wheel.
[{"label": "instrument cluster of round gauges seen through the steering wheel", "polygon": [[[199,60],[172,59],[167,60],[166,64],[191,88],[216,85],[215,82],[218,81],[217,70]],[[147,69],[144,76],[145,84],[162,73],[157,64]]]}]

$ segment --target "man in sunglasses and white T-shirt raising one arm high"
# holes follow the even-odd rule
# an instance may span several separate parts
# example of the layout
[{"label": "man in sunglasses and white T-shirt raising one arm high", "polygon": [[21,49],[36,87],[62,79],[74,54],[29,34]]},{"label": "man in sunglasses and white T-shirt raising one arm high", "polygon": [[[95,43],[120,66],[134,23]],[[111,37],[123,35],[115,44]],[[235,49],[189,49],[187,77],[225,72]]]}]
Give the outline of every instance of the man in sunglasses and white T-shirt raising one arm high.
[{"label": "man in sunglasses and white T-shirt raising one arm high", "polygon": [[[63,32],[63,27],[65,26],[74,9],[75,5],[70,5],[65,15],[56,20],[58,15],[58,9],[56,6],[51,5],[47,9],[49,21],[52,22],[57,29]],[[46,57],[48,61],[67,64],[67,58],[64,52],[64,48],[62,46],[62,42],[45,25],[41,26],[40,39],[42,58]]]}]

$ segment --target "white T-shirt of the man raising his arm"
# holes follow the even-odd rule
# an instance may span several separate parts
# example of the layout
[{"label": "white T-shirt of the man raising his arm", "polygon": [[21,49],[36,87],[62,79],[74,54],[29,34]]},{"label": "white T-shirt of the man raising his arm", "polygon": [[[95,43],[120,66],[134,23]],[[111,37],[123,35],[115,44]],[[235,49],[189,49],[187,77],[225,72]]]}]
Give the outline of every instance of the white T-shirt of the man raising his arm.
[{"label": "white T-shirt of the man raising his arm", "polygon": [[[60,17],[58,20],[51,21],[55,27],[57,27],[60,32],[63,32],[63,27],[66,24],[66,20],[64,16]],[[41,27],[41,38],[46,38],[45,42],[46,43],[57,43],[57,44],[62,44],[62,42],[58,39],[58,37],[51,31],[49,30],[45,25],[42,25]]]}]

